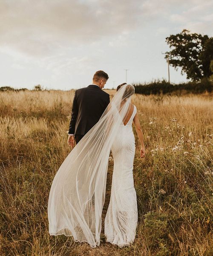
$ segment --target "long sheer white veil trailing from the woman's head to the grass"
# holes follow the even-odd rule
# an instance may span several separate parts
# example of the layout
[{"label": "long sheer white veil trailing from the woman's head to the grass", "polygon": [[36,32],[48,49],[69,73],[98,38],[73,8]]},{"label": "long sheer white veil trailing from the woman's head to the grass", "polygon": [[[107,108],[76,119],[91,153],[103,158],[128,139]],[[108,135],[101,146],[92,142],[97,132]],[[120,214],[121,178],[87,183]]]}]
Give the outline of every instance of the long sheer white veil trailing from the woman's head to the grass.
[{"label": "long sheer white veil trailing from the woman's head to the grass", "polygon": [[[101,213],[112,143],[130,111],[135,88],[124,84],[98,123],[72,149],[56,173],[49,193],[49,234],[73,236],[100,245]],[[122,163],[121,163],[122,164]]]}]

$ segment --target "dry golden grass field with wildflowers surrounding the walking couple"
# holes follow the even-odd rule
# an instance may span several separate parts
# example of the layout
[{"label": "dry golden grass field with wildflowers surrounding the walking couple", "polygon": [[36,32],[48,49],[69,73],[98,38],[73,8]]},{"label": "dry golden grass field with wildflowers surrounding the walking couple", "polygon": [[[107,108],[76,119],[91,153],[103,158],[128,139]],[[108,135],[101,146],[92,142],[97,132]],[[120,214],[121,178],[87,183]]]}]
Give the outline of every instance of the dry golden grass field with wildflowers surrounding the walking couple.
[{"label": "dry golden grass field with wildflowers surrounding the walking couple", "polygon": [[[73,96],[74,90],[0,93],[0,255],[212,255],[213,97],[207,93],[133,96],[147,155],[139,157],[133,126],[138,227],[130,247],[106,243],[103,233],[95,249],[49,236],[49,190],[71,150]],[[103,220],[112,168],[110,158]]]}]

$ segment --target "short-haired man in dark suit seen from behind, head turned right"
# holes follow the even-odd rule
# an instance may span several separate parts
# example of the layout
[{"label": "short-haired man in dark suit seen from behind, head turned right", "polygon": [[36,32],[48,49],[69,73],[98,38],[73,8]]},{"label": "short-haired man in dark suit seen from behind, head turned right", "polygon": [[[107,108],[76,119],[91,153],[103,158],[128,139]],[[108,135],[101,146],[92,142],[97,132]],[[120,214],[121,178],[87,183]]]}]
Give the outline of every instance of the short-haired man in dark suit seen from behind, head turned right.
[{"label": "short-haired man in dark suit seen from behind, head turned right", "polygon": [[98,122],[109,104],[109,94],[102,88],[109,76],[102,70],[95,72],[92,84],[75,91],[69,123],[68,145],[73,148]]}]

